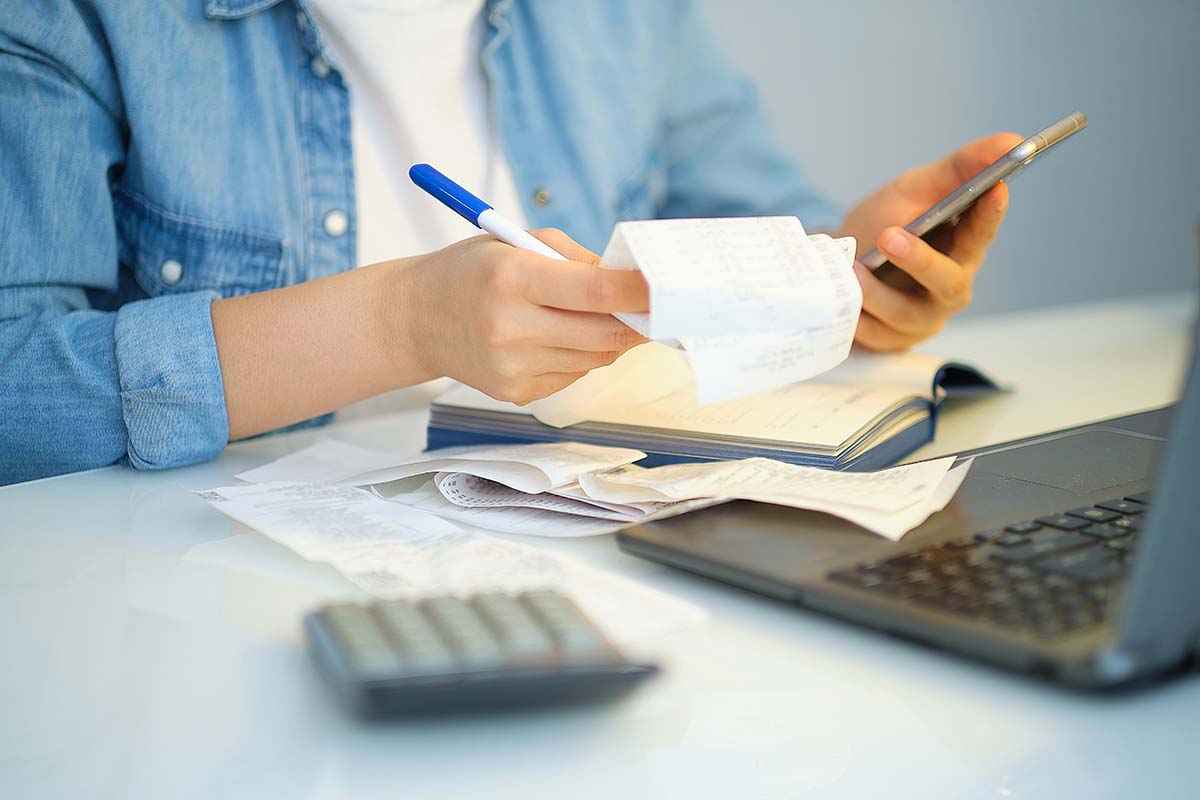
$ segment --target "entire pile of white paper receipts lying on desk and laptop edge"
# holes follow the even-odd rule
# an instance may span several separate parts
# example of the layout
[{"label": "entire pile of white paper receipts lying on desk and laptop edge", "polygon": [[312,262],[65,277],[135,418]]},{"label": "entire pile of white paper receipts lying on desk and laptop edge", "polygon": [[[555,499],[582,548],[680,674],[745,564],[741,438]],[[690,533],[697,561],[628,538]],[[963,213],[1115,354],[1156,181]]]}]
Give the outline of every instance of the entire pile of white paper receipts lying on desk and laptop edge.
[{"label": "entire pile of white paper receipts lying on desk and laptop edge", "polygon": [[895,540],[949,503],[970,465],[833,473],[749,458],[643,469],[640,458],[577,443],[397,456],[326,440],[197,494],[377,597],[557,589],[628,644],[706,615],[548,545],[494,534],[602,534],[740,497],[827,511]]}]

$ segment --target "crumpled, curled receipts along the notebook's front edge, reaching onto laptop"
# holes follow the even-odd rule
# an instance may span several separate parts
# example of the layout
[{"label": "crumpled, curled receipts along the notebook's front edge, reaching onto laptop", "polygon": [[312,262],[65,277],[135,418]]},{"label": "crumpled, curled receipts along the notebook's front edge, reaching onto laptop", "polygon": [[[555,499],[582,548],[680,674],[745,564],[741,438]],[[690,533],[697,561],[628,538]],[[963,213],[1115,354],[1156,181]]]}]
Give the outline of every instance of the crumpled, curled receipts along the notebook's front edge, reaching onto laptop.
[{"label": "crumpled, curled receipts along the notebook's front edge, reaching onto laptop", "polygon": [[637,450],[578,443],[452,447],[396,456],[323,441],[240,474],[251,483],[368,487],[470,528],[588,536],[733,499],[822,511],[892,540],[943,509],[970,462],[838,473],[768,458],[637,467]]}]

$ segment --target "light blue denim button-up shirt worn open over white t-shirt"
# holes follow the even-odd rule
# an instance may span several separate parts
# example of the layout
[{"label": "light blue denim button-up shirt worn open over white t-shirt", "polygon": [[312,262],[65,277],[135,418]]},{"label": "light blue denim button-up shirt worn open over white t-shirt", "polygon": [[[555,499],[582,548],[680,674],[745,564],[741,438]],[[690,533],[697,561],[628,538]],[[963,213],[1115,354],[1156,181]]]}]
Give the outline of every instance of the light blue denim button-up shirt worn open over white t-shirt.
[{"label": "light blue denim button-up shirt worn open over white t-shirt", "polygon": [[[689,0],[488,0],[481,59],[534,227],[829,204]],[[304,0],[0,14],[0,483],[228,440],[210,306],[355,260],[350,97]],[[397,257],[404,253],[397,253]]]}]

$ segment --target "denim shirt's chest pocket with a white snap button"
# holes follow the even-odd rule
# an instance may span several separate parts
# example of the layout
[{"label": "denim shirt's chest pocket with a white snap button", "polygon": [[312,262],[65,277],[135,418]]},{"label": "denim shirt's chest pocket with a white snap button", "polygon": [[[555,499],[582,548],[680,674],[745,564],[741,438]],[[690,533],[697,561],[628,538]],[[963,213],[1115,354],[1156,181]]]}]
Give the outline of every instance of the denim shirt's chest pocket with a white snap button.
[{"label": "denim shirt's chest pocket with a white snap button", "polygon": [[113,203],[121,261],[151,297],[199,290],[229,297],[280,283],[278,239],[172,213],[124,190]]}]

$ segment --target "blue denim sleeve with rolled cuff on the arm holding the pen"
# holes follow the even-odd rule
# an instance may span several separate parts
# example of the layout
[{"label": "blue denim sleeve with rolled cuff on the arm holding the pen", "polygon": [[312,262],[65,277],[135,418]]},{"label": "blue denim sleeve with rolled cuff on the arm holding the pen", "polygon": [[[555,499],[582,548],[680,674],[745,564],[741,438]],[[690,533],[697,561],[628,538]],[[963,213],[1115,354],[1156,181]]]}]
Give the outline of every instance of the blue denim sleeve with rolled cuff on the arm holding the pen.
[{"label": "blue denim sleeve with rolled cuff on the arm holding the pen", "polygon": [[71,4],[20,8],[0,20],[0,483],[210,458],[216,294],[91,307],[118,284],[120,92]]}]

